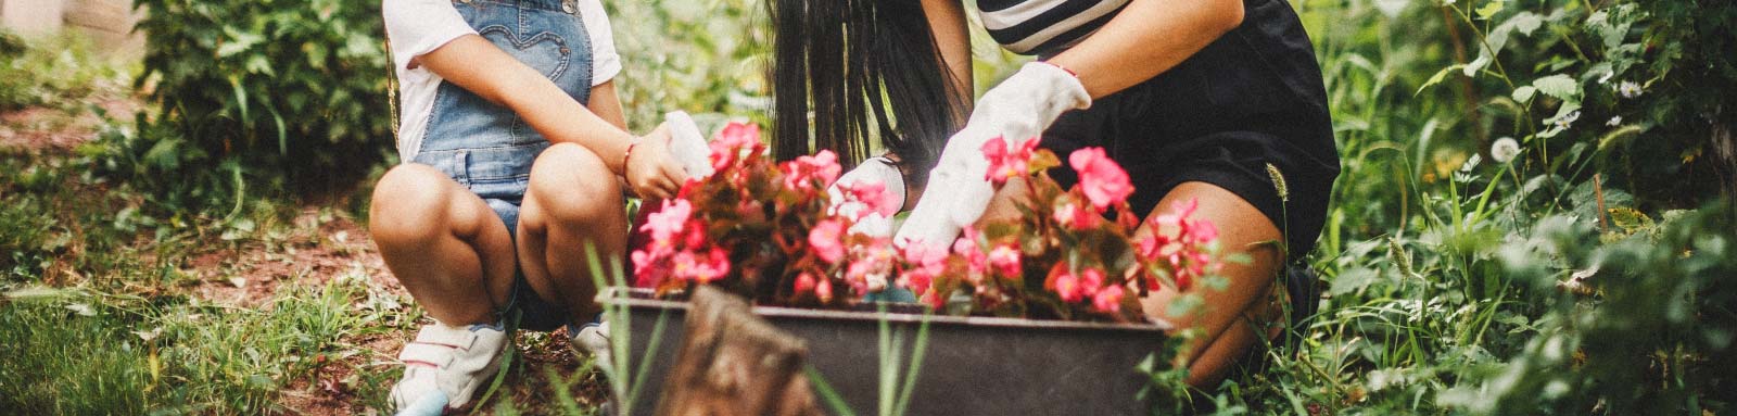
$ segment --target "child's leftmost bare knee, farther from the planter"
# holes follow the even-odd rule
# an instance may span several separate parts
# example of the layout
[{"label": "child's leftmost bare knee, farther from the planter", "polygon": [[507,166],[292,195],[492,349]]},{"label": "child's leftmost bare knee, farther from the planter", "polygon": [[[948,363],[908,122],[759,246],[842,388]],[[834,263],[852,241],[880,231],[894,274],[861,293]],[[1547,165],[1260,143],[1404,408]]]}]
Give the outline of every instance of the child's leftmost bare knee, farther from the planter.
[{"label": "child's leftmost bare knee, farther from the planter", "polygon": [[380,176],[368,204],[368,231],[382,245],[415,244],[450,231],[453,183],[434,167],[403,164]]}]

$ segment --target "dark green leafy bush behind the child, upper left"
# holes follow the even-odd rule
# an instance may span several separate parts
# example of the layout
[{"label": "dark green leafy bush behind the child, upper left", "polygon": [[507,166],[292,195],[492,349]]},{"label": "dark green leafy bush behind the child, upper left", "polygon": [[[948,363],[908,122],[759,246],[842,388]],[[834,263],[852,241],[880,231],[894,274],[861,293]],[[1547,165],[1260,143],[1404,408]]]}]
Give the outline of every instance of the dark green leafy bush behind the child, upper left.
[{"label": "dark green leafy bush behind the child, upper left", "polygon": [[[391,155],[379,2],[139,0],[155,118],[181,174],[234,162],[297,190],[353,185]],[[174,174],[174,172],[170,172]],[[222,172],[228,174],[228,172]]]}]

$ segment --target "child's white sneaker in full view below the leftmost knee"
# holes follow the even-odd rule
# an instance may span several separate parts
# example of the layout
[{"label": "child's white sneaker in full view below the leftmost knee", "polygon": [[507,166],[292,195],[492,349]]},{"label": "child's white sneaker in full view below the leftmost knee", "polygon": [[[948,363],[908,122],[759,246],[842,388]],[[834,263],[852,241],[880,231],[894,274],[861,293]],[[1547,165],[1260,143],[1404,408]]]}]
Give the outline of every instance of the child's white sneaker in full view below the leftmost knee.
[{"label": "child's white sneaker in full view below the leftmost knee", "polygon": [[500,325],[450,327],[434,322],[405,345],[398,360],[405,376],[393,385],[398,414],[441,414],[471,402],[471,393],[495,376],[507,332]]}]

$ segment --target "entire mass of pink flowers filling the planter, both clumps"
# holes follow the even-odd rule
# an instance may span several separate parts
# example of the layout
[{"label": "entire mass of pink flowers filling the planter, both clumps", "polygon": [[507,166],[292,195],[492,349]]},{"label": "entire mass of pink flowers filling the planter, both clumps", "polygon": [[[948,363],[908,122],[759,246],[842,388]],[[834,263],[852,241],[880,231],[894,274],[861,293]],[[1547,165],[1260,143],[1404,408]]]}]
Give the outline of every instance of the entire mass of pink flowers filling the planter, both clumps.
[{"label": "entire mass of pink flowers filling the planter, both clumps", "polygon": [[[1176,205],[1141,223],[1134,186],[1101,148],[1068,155],[1079,183],[1037,139],[994,139],[987,181],[1025,186],[1018,218],[988,219],[945,245],[896,247],[851,231],[900,207],[881,183],[844,183],[837,155],[773,162],[759,129],[731,124],[712,141],[714,174],[693,178],[643,221],[634,282],[660,296],[710,284],[763,305],[841,308],[903,287],[935,308],[974,315],[1143,320],[1139,296],[1186,289],[1218,272],[1218,228]],[[1013,181],[1013,179],[1023,181]]]}]

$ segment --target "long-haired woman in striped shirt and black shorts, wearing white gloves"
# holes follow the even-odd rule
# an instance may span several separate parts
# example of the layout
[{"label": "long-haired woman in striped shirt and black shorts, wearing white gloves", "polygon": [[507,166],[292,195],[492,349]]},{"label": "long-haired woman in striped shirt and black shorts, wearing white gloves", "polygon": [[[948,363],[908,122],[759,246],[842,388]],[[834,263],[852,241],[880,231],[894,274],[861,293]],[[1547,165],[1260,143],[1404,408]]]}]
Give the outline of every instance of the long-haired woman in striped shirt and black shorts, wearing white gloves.
[{"label": "long-haired woman in striped shirt and black shorts, wearing white gloves", "polygon": [[[1058,155],[1105,148],[1138,188],[1136,212],[1199,200],[1195,216],[1219,226],[1223,247],[1254,259],[1225,268],[1226,289],[1199,292],[1204,313],[1164,315],[1174,291],[1143,299],[1148,315],[1200,329],[1183,357],[1188,381],[1216,385],[1273,334],[1275,277],[1313,249],[1339,172],[1298,16],[1285,0],[978,0],[976,9],[995,42],[1037,61],[973,104],[961,0],[775,0],[778,157],[830,148],[858,160],[879,136],[889,155],[841,183],[905,183],[914,211],[896,240],[947,244],[985,216],[1014,214],[1021,198],[1023,186],[997,195],[985,181],[983,141],[1042,136]],[[1051,174],[1077,181],[1067,167]],[[922,193],[929,186],[947,191]]]}]

